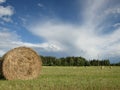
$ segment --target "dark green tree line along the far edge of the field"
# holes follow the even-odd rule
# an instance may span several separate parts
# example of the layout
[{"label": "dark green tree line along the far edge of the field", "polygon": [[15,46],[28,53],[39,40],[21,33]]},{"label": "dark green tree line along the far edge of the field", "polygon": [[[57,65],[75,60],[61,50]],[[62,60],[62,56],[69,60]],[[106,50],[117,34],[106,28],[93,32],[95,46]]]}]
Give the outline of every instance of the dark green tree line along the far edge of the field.
[{"label": "dark green tree line along the far edge of the field", "polygon": [[110,64],[109,59],[105,60],[86,60],[84,57],[62,57],[56,58],[52,56],[41,56],[44,66],[110,66],[120,65]]}]

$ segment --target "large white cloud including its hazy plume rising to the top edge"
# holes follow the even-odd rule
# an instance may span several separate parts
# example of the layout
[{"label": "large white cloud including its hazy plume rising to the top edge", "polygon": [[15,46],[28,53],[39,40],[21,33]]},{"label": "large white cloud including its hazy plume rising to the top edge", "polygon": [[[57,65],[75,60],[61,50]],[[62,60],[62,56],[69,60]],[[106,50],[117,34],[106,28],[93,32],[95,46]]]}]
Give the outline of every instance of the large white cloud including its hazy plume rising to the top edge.
[{"label": "large white cloud including its hazy plume rising to the top edge", "polygon": [[60,47],[65,55],[81,55],[87,59],[118,56],[120,54],[120,29],[101,34],[105,28],[102,23],[108,16],[104,13],[106,4],[109,2],[105,0],[87,0],[83,10],[84,23],[82,25],[46,20],[31,23],[28,30],[47,42],[55,42],[54,44]]}]

